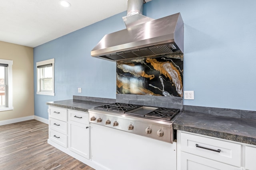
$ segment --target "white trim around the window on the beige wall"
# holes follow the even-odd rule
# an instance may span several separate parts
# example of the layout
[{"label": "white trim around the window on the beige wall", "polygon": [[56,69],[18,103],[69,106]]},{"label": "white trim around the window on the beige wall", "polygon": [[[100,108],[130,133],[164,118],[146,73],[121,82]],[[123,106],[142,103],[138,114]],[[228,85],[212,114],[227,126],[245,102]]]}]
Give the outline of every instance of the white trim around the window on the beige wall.
[{"label": "white trim around the window on the beige wall", "polygon": [[8,107],[1,107],[0,111],[13,110],[13,106],[12,106],[12,64],[13,64],[13,61],[0,59],[0,63],[8,64],[8,67],[7,67]]}]

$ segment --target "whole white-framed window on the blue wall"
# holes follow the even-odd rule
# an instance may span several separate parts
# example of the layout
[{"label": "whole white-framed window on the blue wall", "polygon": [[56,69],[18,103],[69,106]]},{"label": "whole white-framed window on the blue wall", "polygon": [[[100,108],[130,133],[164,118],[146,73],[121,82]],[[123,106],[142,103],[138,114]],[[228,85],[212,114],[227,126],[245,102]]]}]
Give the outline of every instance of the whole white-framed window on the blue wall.
[{"label": "whole white-framed window on the blue wall", "polygon": [[54,59],[36,63],[36,94],[54,96]]}]

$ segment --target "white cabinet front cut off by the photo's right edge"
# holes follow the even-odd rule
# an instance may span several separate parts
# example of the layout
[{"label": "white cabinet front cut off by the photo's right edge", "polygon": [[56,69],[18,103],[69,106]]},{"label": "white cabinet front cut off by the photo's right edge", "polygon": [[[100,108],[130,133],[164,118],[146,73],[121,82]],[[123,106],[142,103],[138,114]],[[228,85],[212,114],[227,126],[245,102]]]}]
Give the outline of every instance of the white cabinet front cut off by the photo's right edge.
[{"label": "white cabinet front cut off by the photo's right edge", "polygon": [[245,168],[247,170],[256,170],[256,148],[245,147]]}]

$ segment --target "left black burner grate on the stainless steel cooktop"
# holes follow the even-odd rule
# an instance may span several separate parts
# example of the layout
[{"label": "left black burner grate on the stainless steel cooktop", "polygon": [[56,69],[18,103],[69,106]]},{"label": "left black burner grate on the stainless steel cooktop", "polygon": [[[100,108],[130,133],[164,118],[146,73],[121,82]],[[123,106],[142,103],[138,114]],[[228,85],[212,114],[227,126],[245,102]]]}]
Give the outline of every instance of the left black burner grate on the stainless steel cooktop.
[{"label": "left black burner grate on the stainless steel cooktop", "polygon": [[125,113],[126,111],[130,111],[130,110],[136,109],[138,107],[141,107],[141,106],[134,105],[134,104],[113,103],[113,104],[107,104],[107,105],[103,105],[103,106],[97,106],[97,107],[94,107],[94,109],[114,111],[114,112],[118,112],[118,113]]}]

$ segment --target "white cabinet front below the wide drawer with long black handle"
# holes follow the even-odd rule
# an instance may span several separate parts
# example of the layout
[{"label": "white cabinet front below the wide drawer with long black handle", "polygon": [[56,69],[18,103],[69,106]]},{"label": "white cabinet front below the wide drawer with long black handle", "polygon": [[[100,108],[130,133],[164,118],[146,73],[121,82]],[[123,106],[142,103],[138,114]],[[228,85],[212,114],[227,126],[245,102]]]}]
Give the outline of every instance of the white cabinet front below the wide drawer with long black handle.
[{"label": "white cabinet front below the wide drawer with long black handle", "polygon": [[242,170],[242,168],[181,152],[181,170]]}]

